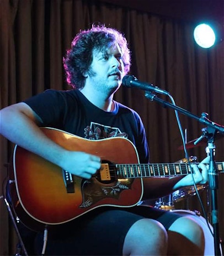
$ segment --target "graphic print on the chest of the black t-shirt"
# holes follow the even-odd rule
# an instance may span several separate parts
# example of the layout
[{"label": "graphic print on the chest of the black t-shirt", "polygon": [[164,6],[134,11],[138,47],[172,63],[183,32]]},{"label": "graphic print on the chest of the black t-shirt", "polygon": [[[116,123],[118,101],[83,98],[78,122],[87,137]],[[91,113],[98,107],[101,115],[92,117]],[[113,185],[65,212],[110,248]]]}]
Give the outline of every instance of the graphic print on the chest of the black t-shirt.
[{"label": "graphic print on the chest of the black t-shirt", "polygon": [[111,137],[124,137],[127,138],[127,133],[122,133],[119,128],[104,126],[103,124],[91,122],[90,126],[85,129],[86,139],[105,139]]}]

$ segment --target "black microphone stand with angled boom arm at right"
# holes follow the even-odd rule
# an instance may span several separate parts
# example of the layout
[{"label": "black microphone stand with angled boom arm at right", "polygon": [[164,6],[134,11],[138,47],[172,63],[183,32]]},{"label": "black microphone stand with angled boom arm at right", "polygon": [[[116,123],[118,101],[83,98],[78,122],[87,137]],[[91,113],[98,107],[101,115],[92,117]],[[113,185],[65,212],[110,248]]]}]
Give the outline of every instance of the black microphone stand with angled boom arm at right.
[{"label": "black microphone stand with angled boom arm at right", "polygon": [[220,237],[219,237],[219,229],[218,229],[218,207],[217,207],[217,189],[218,189],[218,171],[216,168],[215,160],[214,160],[214,153],[215,153],[215,134],[217,132],[224,134],[224,126],[220,124],[214,123],[207,118],[206,113],[202,113],[201,117],[195,116],[189,111],[186,111],[184,108],[180,108],[178,106],[173,105],[167,101],[158,98],[150,91],[145,91],[146,98],[150,99],[151,101],[156,101],[161,103],[163,107],[169,107],[177,110],[178,112],[185,114],[185,116],[191,117],[196,119],[202,124],[205,124],[207,128],[204,130],[204,135],[202,135],[200,139],[206,137],[208,140],[208,148],[210,151],[210,163],[209,163],[209,190],[211,193],[211,217],[212,217],[212,226],[214,228],[214,245],[215,245],[215,255],[221,256],[220,250]]}]

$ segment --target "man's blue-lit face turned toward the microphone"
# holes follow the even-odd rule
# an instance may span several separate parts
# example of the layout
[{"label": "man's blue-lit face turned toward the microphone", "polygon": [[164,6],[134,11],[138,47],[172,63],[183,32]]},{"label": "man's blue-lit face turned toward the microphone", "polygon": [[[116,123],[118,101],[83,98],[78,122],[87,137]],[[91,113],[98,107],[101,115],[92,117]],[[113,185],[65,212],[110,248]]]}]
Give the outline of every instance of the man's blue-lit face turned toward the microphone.
[{"label": "man's blue-lit face turned toward the microphone", "polygon": [[93,50],[93,61],[86,82],[100,92],[115,92],[124,77],[124,63],[118,44],[104,52]]}]

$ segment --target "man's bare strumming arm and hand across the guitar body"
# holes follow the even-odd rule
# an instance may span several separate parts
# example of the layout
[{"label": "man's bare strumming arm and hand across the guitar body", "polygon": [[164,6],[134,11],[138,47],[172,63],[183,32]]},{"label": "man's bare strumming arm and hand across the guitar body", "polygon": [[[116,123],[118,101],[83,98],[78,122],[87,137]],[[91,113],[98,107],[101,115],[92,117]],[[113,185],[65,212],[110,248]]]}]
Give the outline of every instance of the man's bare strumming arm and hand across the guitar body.
[{"label": "man's bare strumming arm and hand across the guitar body", "polygon": [[20,147],[86,179],[100,168],[98,156],[66,150],[49,139],[39,128],[41,118],[25,103],[3,108],[0,115],[1,134]]}]

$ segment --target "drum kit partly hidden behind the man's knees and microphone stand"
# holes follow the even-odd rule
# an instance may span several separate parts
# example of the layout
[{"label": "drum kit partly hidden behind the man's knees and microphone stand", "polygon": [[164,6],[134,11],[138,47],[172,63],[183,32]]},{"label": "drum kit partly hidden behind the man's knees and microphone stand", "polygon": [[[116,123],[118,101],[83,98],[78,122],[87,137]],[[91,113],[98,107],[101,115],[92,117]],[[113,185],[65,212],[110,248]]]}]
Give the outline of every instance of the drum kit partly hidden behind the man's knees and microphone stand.
[{"label": "drum kit partly hidden behind the man's knees and microphone stand", "polygon": [[[222,138],[223,135],[220,135],[218,138]],[[186,143],[186,149],[198,147],[200,145],[205,145],[206,141],[202,139],[200,143],[197,145],[194,144],[195,140],[191,140],[190,142]],[[183,146],[180,146],[178,148],[179,150],[183,149]],[[197,158],[196,156],[190,156],[189,158],[190,162],[196,162]],[[188,160],[183,158],[175,163],[188,163]],[[196,191],[198,190],[198,191]],[[210,211],[210,197],[209,197],[209,187],[208,185],[196,185],[196,186],[188,186],[183,187],[182,189],[174,191],[172,194],[168,196],[164,196],[161,198],[157,198],[156,200],[146,200],[142,201],[141,205],[146,206],[153,206],[155,208],[159,208],[166,211],[173,211],[182,214],[183,216],[190,216],[193,218],[202,228],[205,235],[205,252],[204,255],[214,255],[214,230],[212,225],[210,224],[210,213],[206,218],[201,216],[201,213],[197,210],[189,210],[189,200],[190,198],[193,198],[196,194],[201,194],[202,192],[205,192],[206,194],[206,206],[207,206],[207,212]],[[184,202],[184,210],[183,209],[176,209],[175,207],[178,205],[179,202]],[[220,241],[220,251],[222,254],[222,244],[223,242]]]}]

